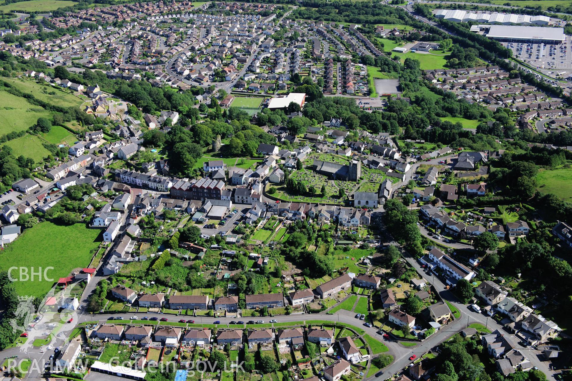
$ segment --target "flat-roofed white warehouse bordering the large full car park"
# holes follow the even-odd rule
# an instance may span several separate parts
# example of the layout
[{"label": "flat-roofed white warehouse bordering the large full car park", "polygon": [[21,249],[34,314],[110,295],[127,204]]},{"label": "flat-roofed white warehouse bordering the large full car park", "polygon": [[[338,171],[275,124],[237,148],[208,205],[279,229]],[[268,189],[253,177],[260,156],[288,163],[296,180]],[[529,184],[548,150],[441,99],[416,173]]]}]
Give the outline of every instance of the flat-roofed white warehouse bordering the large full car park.
[{"label": "flat-roofed white warehouse bordering the large full car park", "polygon": [[484,35],[498,41],[562,43],[566,40],[564,28],[512,25],[491,25],[490,27],[479,25],[479,27],[487,27],[488,31],[485,30]]}]

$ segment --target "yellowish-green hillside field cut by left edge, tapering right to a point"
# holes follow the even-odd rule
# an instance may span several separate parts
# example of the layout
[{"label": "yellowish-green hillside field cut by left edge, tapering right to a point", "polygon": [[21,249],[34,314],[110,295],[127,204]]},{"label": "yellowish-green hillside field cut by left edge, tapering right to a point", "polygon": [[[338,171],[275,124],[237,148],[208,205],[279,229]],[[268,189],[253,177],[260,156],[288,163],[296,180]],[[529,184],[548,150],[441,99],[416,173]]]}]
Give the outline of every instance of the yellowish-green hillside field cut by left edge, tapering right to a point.
[{"label": "yellowish-green hillside field cut by left edge, tapering right to a point", "polygon": [[26,130],[35,125],[39,117],[50,116],[49,111],[32,105],[24,98],[0,91],[0,135]]}]

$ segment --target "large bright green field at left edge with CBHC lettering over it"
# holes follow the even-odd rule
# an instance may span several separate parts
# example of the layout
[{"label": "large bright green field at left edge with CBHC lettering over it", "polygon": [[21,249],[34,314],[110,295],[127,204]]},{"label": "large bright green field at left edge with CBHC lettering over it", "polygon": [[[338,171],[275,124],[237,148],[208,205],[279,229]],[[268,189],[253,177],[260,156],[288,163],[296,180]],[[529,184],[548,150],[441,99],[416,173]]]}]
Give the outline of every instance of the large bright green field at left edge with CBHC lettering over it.
[{"label": "large bright green field at left edge with CBHC lettering over it", "polygon": [[51,280],[14,283],[19,295],[43,295],[58,278],[69,275],[74,268],[88,266],[101,242],[100,235],[101,230],[88,229],[82,223],[61,226],[41,222],[7,245],[1,254],[0,268],[53,267],[54,270],[46,272]]}]

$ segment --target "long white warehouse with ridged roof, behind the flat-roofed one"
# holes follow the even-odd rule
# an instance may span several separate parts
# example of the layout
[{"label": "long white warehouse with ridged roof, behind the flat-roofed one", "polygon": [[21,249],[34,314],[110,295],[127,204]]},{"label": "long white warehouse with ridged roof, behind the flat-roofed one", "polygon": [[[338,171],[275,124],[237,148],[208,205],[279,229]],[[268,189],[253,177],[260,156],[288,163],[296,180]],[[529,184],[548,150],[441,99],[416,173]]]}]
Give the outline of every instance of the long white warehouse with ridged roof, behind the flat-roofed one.
[{"label": "long white warehouse with ridged roof, behind the flat-roofed one", "polygon": [[520,24],[520,25],[549,25],[550,17],[530,16],[527,14],[498,13],[498,12],[472,12],[460,9],[435,9],[436,18],[443,18],[454,22],[482,22],[491,24]]}]

